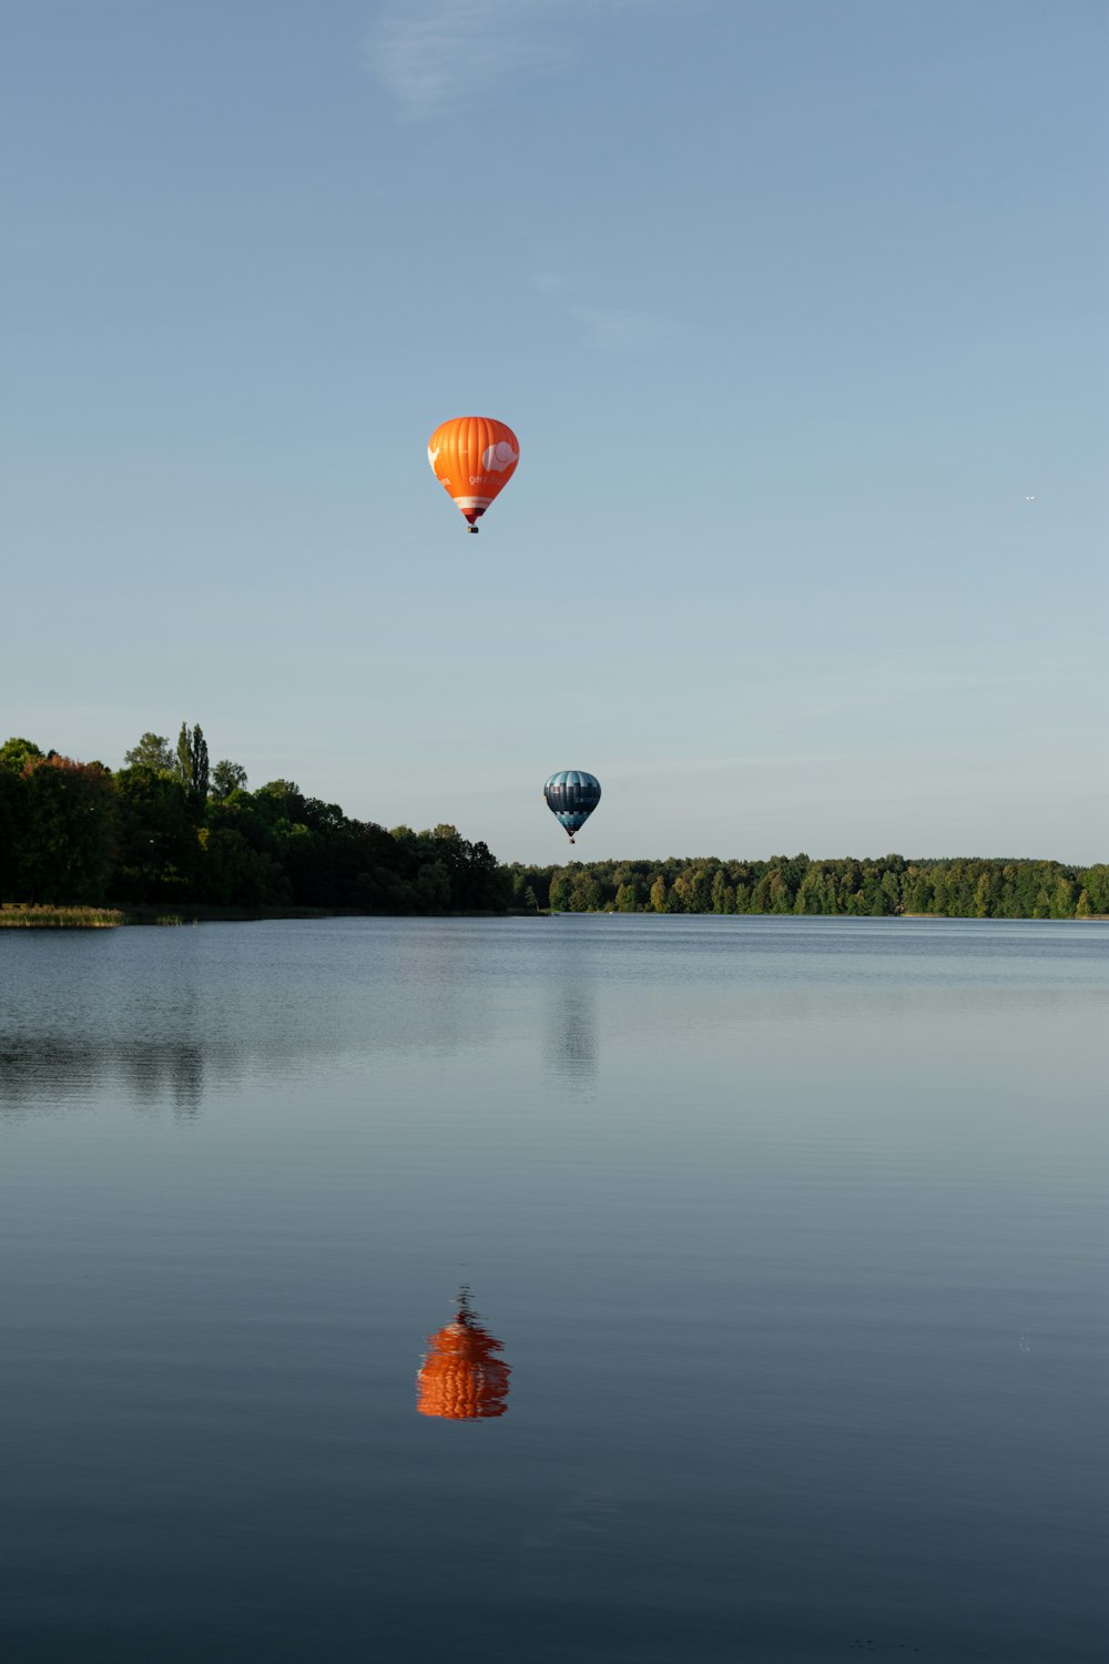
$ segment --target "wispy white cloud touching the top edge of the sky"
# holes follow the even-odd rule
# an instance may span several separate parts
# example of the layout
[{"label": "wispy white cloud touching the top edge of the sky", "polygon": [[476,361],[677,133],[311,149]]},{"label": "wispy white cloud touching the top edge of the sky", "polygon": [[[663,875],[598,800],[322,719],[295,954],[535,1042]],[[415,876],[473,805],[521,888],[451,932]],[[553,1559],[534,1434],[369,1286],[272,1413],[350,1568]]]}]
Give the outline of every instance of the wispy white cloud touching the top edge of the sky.
[{"label": "wispy white cloud touching the top edge of the sky", "polygon": [[[525,70],[575,55],[569,25],[647,0],[386,0],[366,40],[369,68],[412,118],[432,118]],[[577,30],[582,37],[582,30]]]}]

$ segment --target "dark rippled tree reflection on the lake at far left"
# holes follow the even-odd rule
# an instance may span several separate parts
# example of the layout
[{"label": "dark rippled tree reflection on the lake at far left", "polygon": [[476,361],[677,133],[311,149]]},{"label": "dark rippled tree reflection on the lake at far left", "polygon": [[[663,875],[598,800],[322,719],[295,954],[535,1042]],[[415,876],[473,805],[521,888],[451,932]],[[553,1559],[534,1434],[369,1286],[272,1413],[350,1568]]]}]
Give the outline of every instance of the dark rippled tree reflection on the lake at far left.
[{"label": "dark rippled tree reflection on the lake at far left", "polygon": [[[0,1115],[27,1115],[120,1085],[140,1112],[200,1112],[213,1073],[238,1077],[246,1058],[190,1040],[0,1037]],[[213,1068],[214,1065],[214,1068]],[[53,1105],[50,1103],[53,1100]]]}]

